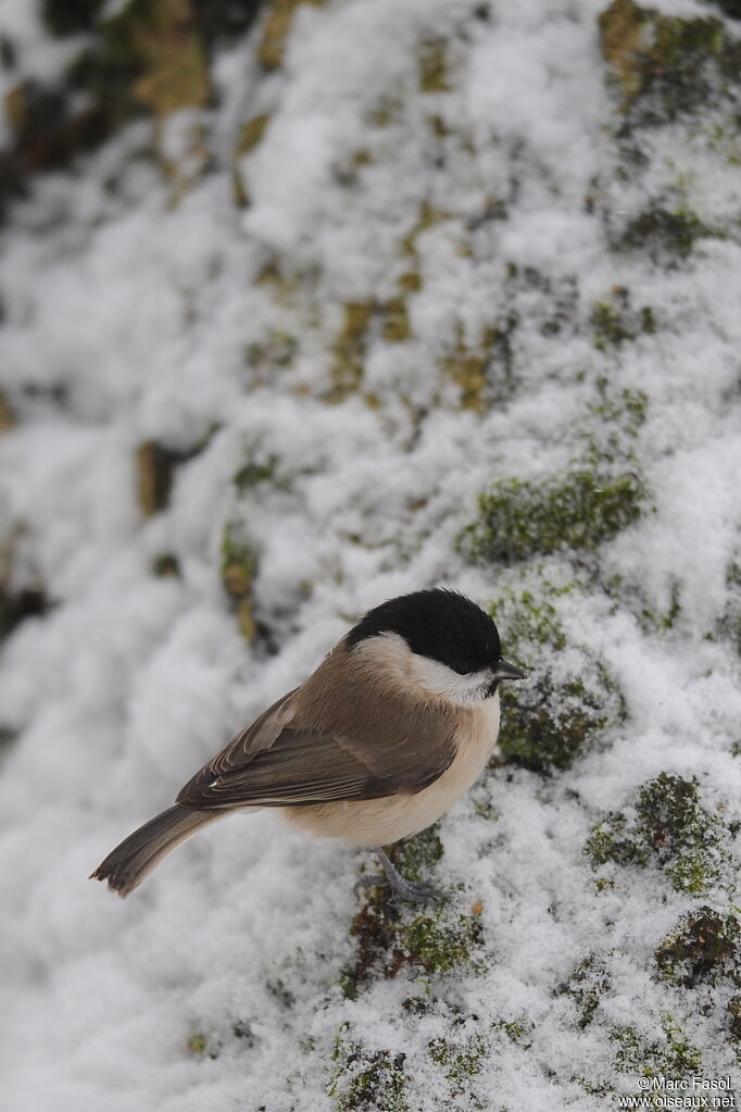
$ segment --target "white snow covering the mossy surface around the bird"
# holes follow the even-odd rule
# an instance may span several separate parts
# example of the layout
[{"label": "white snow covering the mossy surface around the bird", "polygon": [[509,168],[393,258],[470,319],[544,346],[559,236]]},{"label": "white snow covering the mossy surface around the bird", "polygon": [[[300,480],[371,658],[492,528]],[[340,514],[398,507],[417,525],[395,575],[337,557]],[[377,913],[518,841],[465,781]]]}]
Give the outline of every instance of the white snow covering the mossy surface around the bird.
[{"label": "white snow covering the mossy surface around the bird", "polygon": [[[53,78],[68,48],[27,4],[6,7],[20,71]],[[19,419],[0,434],[0,548],[13,589],[43,585],[54,605],[0,646],[0,726],[18,734],[0,765],[9,1112],[341,1108],[343,1039],[366,1059],[405,1054],[405,1100],[427,1112],[453,1100],[429,1043],[477,1031],[489,1051],[461,1108],[601,1109],[612,1096],[599,1085],[625,1084],[614,1031],[651,1043],[667,1015],[700,1049],[700,1072],[738,1083],[732,987],[674,987],[653,964],[683,914],[725,914],[733,892],[697,898],[655,866],[613,866],[597,892],[583,852],[592,825],[661,772],[697,776],[727,823],[741,791],[739,657],[715,635],[741,530],[738,165],[725,140],[680,121],[647,133],[645,167],[620,177],[602,7],[527,0],[487,20],[443,0],[303,6],[279,71],[259,71],[254,32],[214,60],[214,165],[182,196],[139,122],[11,210],[0,384]],[[420,44],[438,41],[450,88],[423,93]],[[240,210],[234,132],[260,113]],[[723,238],[671,266],[611,251],[611,228],[671,189]],[[484,218],[495,202],[505,218]],[[434,219],[421,225],[425,205]],[[378,316],[414,268],[410,338],[384,340],[374,318],[362,391],[329,404],[344,306]],[[590,311],[618,286],[657,330],[600,351]],[[457,328],[475,351],[508,320],[512,369],[497,364],[482,414],[462,410],[442,369]],[[277,337],[296,342],[283,363]],[[451,915],[481,905],[483,970],[408,966],[343,996],[370,855],[308,844],[273,814],[214,824],[126,903],[87,880],[368,607],[434,583],[482,603],[517,589],[520,569],[469,564],[455,539],[492,479],[581,457],[599,379],[648,396],[632,450],[654,508],[602,546],[600,582],[574,573],[559,616],[565,664],[579,666],[574,645],[604,661],[627,718],[551,778],[492,771],[443,821],[435,881],[454,891]],[[200,450],[146,519],[136,454],[148,439]],[[246,459],[274,461],[274,475],[240,493]],[[269,645],[240,636],[220,583],[229,525],[260,550]],[[153,577],[163,553],[180,578]],[[568,555],[541,564],[551,582],[573,569]],[[608,599],[615,576],[624,589]],[[642,626],[641,606],[667,613],[673,585],[674,627]],[[609,989],[580,1027],[561,990],[595,953]],[[417,995],[423,1014],[402,1006]]]}]

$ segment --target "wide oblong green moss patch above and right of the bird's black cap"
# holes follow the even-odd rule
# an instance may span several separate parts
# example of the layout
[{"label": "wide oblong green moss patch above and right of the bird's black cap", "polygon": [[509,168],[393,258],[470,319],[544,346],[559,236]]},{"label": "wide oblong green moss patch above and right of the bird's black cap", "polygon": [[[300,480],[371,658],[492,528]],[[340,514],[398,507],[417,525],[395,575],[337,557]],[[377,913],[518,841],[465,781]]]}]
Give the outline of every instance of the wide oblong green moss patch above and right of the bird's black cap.
[{"label": "wide oblong green moss patch above and right of the bird's black cap", "polygon": [[601,473],[587,464],[540,481],[501,479],[480,495],[479,518],[458,544],[470,559],[492,564],[591,549],[635,522],[645,502],[635,473]]}]

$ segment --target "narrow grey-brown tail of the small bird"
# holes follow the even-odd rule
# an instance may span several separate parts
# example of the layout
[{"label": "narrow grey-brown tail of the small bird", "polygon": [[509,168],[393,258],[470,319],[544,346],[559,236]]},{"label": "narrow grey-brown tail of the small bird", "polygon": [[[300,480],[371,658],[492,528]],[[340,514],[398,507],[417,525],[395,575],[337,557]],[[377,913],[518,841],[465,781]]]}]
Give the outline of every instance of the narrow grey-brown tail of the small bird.
[{"label": "narrow grey-brown tail of the small bird", "polygon": [[118,892],[123,898],[149,876],[162,857],[201,826],[222,815],[223,811],[188,811],[187,807],[177,805],[169,807],[117,845],[94,873],[90,874],[90,880],[108,881],[111,892]]}]

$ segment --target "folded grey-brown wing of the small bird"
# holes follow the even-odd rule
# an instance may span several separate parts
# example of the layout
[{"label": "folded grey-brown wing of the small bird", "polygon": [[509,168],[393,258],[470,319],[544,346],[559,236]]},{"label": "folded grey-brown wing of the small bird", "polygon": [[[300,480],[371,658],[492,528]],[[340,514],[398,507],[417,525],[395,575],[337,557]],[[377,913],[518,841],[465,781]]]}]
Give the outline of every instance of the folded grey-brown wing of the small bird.
[{"label": "folded grey-brown wing of the small bird", "polygon": [[[346,695],[352,695],[347,687]],[[372,800],[421,791],[453,758],[453,723],[424,708],[404,711],[387,699],[364,707],[361,728],[344,736],[339,723],[332,726],[334,715],[312,713],[317,704],[306,696],[307,685],[269,707],[177,802],[208,810]]]}]

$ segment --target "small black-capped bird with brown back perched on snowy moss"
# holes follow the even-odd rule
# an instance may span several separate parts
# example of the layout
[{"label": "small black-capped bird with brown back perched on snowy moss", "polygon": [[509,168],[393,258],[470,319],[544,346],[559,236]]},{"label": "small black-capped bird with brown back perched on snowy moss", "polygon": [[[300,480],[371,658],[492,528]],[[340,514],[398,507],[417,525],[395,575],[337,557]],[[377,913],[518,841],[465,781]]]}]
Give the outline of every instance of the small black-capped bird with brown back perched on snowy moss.
[{"label": "small black-capped bird with brown back perched on snowy moss", "polygon": [[181,842],[233,811],[276,807],[319,837],[373,848],[407,900],[440,898],[382,846],[434,823],[471,787],[499,733],[502,658],[489,615],[432,588],[369,610],[300,687],[246,726],[92,873],[127,896]]}]

